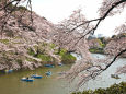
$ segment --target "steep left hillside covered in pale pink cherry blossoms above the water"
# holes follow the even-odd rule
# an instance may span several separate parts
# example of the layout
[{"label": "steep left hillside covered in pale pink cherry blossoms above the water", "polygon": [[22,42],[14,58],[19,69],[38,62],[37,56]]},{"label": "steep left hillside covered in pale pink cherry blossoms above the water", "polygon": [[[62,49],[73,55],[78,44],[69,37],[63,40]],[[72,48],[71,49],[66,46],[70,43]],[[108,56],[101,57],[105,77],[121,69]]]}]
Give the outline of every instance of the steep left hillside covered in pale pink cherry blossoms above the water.
[{"label": "steep left hillside covered in pale pink cherry blossoms above the water", "polygon": [[[64,55],[57,54],[58,47],[51,44],[50,35],[56,32],[55,25],[45,17],[38,16],[35,12],[32,13],[32,23],[28,10],[21,19],[23,10],[20,8],[14,11],[2,31],[0,37],[0,70],[33,70],[45,63],[56,64],[61,60],[64,61],[61,58]],[[4,13],[4,11],[0,11],[0,25],[3,23]],[[64,51],[64,54],[66,55],[67,51]],[[72,61],[76,60],[72,59]]]}]

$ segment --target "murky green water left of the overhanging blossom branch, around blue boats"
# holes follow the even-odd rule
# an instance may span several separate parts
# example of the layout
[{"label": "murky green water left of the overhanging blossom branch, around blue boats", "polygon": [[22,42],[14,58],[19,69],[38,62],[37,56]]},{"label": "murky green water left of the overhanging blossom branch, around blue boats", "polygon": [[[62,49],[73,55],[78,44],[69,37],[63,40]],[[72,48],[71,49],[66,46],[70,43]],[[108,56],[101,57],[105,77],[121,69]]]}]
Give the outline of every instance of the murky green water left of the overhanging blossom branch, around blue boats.
[{"label": "murky green water left of the overhanging blossom branch, around blue boats", "polygon": [[[20,71],[0,75],[0,94],[69,94],[69,86],[66,81],[58,80],[58,72],[70,69],[70,66],[55,68],[39,68],[34,71]],[[50,70],[51,77],[45,72]],[[34,82],[22,82],[22,77],[33,73],[43,75],[43,79],[35,79]]]}]

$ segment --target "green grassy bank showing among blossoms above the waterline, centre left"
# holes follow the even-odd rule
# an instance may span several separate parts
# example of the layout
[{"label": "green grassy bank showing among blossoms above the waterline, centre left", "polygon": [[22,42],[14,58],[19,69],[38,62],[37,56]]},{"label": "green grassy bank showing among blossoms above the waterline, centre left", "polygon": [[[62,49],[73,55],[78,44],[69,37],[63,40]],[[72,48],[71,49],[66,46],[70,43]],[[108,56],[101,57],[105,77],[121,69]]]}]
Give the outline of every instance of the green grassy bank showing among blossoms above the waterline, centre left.
[{"label": "green grassy bank showing among blossoms above the waterline, centre left", "polygon": [[53,51],[54,55],[58,56],[62,63],[73,63],[76,57],[68,54],[66,49],[58,50],[55,44],[39,44],[33,48],[27,49],[28,55],[39,58],[43,63],[56,63],[56,58],[49,55],[49,51]]}]

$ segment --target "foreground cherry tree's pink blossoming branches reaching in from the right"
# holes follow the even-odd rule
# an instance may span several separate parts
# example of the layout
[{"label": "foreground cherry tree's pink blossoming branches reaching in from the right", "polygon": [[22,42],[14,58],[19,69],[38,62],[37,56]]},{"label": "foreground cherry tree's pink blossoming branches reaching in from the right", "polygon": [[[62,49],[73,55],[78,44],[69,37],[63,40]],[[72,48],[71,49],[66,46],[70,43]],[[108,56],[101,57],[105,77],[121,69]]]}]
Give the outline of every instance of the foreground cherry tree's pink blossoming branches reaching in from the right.
[{"label": "foreground cherry tree's pink blossoming branches reaching in from the right", "polygon": [[[121,13],[125,8],[125,4],[126,0],[103,0],[102,5],[99,9],[100,17],[94,20],[87,20],[84,15],[80,14],[80,11],[76,11],[68,20],[65,20],[60,24],[59,27],[64,30],[62,34],[66,33],[67,35],[71,35],[72,38],[73,35],[76,37],[80,35],[72,40],[70,39],[70,36],[67,36],[66,34],[66,37],[64,37],[62,39],[60,37],[60,42],[64,42],[64,46],[67,46],[69,49],[72,48],[73,50],[78,50],[78,52],[82,56],[82,59],[75,63],[71,69],[64,75],[64,78],[67,78],[67,80],[69,80],[70,82],[79,77],[77,89],[90,79],[94,79],[103,71],[107,70],[121,55],[126,52],[126,46],[124,45],[126,39],[124,39],[122,44],[117,44],[117,47],[115,49],[112,49],[114,57],[107,57],[105,59],[92,58],[87,46],[88,35],[94,34],[101,22],[104,21],[107,16],[113,16],[116,13]],[[116,28],[116,31],[124,32],[125,25]],[[126,73],[125,67],[123,67],[122,69],[119,68],[117,72]]]}]

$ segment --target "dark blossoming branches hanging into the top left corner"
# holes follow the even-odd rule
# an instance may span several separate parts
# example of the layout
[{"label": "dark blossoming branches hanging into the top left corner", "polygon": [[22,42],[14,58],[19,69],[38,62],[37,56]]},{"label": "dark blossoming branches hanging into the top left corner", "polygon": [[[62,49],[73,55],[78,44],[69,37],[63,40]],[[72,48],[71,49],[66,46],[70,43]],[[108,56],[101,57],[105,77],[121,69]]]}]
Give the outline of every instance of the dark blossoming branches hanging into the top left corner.
[{"label": "dark blossoming branches hanging into the top left corner", "polygon": [[[7,21],[10,19],[12,13],[18,9],[19,5],[22,3],[26,2],[26,9],[31,10],[31,21],[33,23],[33,17],[32,17],[32,3],[31,0],[0,0],[0,34],[1,38],[3,35],[4,26],[7,24]],[[24,15],[26,10],[24,10],[19,16],[22,20],[22,16]]]}]

